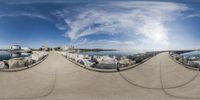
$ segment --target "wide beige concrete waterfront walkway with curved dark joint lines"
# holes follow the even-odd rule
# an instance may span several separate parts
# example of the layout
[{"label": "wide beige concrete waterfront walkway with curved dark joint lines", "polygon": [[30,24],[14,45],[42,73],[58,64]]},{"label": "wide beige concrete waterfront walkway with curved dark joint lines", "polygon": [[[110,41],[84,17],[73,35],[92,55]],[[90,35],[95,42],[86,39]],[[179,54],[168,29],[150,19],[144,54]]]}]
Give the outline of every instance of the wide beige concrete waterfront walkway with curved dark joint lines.
[{"label": "wide beige concrete waterfront walkway with curved dark joint lines", "polygon": [[199,84],[199,71],[175,63],[168,53],[115,73],[83,69],[50,53],[33,68],[0,72],[0,99],[194,100],[200,99]]}]

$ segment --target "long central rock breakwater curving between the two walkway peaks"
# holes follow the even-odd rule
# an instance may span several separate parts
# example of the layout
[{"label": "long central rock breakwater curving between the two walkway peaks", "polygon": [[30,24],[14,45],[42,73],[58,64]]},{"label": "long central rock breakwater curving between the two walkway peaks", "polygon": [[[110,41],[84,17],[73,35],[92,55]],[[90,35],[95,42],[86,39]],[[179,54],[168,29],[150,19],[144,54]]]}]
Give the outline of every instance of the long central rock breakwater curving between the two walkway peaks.
[{"label": "long central rock breakwater curving between the two walkway peaks", "polygon": [[146,58],[152,57],[155,53],[137,54],[133,56],[110,57],[110,56],[89,56],[76,53],[58,52],[67,59],[81,64],[86,68],[98,69],[116,69],[124,68],[143,61]]}]

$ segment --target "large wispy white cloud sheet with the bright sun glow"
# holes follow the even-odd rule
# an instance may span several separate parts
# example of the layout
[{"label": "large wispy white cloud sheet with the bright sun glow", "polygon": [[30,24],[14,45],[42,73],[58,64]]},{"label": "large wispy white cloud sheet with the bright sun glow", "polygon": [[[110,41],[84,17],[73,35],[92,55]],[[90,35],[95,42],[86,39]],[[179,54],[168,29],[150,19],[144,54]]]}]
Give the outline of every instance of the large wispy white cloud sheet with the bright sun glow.
[{"label": "large wispy white cloud sheet with the bright sun glow", "polygon": [[109,2],[78,7],[73,17],[68,9],[58,11],[57,16],[68,25],[65,35],[71,40],[106,33],[143,36],[149,42],[169,45],[166,24],[188,9],[169,2]]}]

